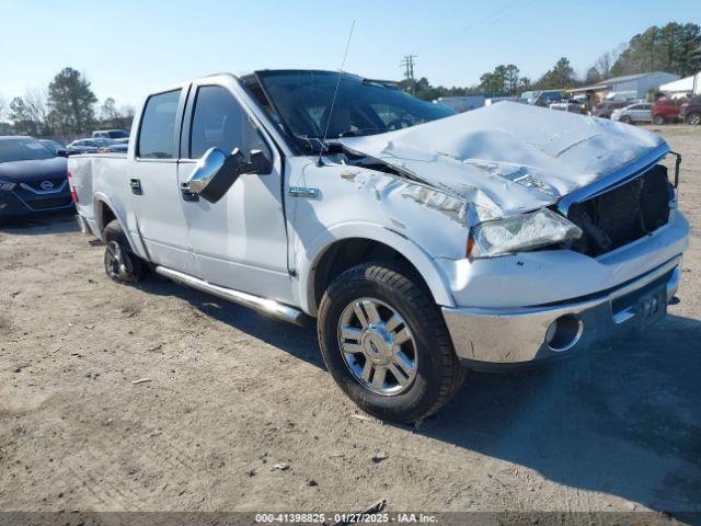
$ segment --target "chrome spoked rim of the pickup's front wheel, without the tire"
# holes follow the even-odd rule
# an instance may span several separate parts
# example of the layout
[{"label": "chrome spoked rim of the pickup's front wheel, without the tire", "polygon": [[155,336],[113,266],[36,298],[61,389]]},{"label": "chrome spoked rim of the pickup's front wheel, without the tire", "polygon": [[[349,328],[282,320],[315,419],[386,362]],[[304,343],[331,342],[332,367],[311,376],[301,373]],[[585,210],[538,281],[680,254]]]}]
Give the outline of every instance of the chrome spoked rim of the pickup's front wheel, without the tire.
[{"label": "chrome spoked rim of the pickup's front wheel, without the tire", "polygon": [[400,395],[416,377],[414,335],[399,312],[379,299],[360,298],[343,309],[338,347],[353,377],[378,395]]}]

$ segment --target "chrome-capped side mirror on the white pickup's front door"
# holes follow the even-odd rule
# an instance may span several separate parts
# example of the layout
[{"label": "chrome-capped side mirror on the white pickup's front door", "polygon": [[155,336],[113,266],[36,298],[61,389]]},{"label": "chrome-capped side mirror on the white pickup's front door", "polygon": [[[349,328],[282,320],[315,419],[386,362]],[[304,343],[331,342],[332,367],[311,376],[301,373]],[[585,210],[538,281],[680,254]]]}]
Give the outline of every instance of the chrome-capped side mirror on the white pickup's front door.
[{"label": "chrome-capped side mirror on the white pickup's front door", "polygon": [[238,148],[230,156],[219,148],[209,148],[185,184],[193,194],[209,203],[217,203],[239,179],[244,164],[243,153]]}]

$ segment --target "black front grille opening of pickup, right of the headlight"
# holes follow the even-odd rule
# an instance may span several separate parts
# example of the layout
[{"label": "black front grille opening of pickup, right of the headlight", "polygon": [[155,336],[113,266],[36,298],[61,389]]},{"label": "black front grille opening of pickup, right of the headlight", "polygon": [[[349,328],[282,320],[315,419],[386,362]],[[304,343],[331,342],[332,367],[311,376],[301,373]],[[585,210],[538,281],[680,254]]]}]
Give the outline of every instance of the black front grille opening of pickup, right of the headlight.
[{"label": "black front grille opening of pickup, right of the headlight", "polygon": [[670,198],[667,168],[657,164],[610,192],[574,203],[567,218],[584,235],[572,250],[597,256],[647,236],[669,220]]}]

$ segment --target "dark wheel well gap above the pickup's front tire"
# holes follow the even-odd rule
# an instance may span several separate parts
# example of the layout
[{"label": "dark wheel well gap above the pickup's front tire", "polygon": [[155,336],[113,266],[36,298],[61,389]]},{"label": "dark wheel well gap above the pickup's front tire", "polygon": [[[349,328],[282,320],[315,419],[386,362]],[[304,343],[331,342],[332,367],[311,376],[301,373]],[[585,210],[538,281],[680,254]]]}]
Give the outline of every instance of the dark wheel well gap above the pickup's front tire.
[{"label": "dark wheel well gap above the pickup's front tire", "polygon": [[433,299],[433,294],[418,270],[400,252],[379,241],[352,238],[332,244],[312,268],[314,302],[311,307],[313,310],[317,310],[321,302],[321,297],[336,276],[355,265],[368,261],[399,263],[410,273],[407,277],[411,277]]}]

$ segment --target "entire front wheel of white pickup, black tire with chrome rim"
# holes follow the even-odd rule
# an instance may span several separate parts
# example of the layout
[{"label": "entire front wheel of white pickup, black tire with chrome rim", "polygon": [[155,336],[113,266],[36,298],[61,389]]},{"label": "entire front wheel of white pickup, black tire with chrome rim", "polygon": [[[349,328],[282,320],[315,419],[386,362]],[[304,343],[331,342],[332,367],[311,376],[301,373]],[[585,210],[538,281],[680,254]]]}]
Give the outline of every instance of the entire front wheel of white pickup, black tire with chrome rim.
[{"label": "entire front wheel of white pickup, black tire with chrome rim", "polygon": [[412,274],[386,263],[354,266],[333,281],[319,308],[319,344],[329,371],[358,407],[382,420],[432,415],[459,391],[466,375],[438,308]]}]

